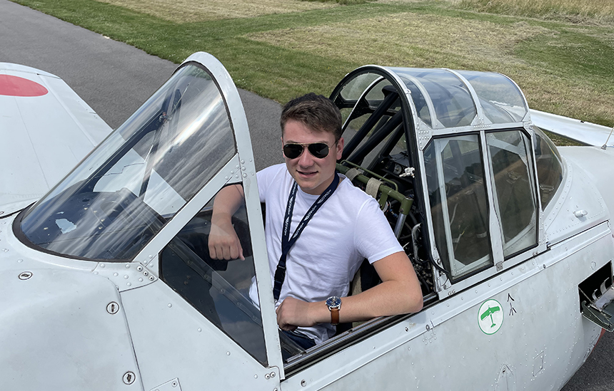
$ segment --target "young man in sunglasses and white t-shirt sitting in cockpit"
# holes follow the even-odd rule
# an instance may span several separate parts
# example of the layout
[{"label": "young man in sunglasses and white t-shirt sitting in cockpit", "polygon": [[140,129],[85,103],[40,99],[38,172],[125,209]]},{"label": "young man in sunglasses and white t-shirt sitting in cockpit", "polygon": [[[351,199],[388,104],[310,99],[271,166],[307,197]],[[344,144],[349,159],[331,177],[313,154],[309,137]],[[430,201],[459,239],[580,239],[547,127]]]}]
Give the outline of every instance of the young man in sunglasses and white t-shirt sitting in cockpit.
[{"label": "young man in sunglasses and white t-shirt sitting in cockpit", "polygon": [[[313,93],[291,100],[281,130],[286,164],[258,172],[279,328],[308,348],[334,335],[336,323],[420,311],[418,278],[378,203],[336,173],[343,152],[336,106]],[[242,259],[231,216],[243,194],[240,187],[222,192],[213,205],[209,252],[213,259]],[[347,296],[365,258],[382,283]]]}]

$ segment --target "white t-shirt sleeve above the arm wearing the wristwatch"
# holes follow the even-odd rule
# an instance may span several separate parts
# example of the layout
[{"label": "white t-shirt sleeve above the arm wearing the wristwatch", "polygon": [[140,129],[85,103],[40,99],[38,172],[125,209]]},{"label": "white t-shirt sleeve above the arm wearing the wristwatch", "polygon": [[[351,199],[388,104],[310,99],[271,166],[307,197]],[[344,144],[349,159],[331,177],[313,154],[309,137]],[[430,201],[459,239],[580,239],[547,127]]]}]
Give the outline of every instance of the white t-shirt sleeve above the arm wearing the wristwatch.
[{"label": "white t-shirt sleeve above the arm wearing the wristwatch", "polygon": [[368,199],[358,211],[354,232],[356,249],[369,264],[403,251],[375,199]]}]

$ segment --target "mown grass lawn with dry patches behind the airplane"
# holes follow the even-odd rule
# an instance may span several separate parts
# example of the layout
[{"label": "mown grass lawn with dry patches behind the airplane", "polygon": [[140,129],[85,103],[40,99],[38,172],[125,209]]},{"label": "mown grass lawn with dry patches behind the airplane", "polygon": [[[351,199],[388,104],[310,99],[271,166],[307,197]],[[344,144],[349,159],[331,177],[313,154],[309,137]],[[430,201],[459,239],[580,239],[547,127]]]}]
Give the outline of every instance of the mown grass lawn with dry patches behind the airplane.
[{"label": "mown grass lawn with dry patches behind the airplane", "polygon": [[207,51],[281,103],[369,63],[443,67],[504,73],[531,108],[614,125],[611,0],[16,2],[176,63]]}]

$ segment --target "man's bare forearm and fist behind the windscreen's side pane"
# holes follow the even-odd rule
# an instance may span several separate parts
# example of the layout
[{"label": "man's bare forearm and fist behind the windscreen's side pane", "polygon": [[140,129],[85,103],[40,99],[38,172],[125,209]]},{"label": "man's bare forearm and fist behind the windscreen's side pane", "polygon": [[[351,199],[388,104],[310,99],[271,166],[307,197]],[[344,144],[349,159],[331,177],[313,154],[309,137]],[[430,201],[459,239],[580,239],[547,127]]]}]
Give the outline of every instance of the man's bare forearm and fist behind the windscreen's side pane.
[{"label": "man's bare forearm and fist behind the windscreen's side pane", "polygon": [[241,206],[244,197],[243,187],[238,184],[224,187],[216,195],[208,242],[211,259],[245,259],[241,242],[232,225],[233,214]]}]

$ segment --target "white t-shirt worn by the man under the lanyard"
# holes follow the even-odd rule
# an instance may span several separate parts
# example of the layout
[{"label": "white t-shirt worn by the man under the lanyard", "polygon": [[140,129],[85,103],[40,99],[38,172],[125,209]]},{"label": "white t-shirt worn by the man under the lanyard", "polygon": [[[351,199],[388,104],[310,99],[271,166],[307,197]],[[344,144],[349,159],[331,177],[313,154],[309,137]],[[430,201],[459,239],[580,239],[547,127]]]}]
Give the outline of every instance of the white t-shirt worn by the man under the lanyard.
[{"label": "white t-shirt worn by the man under the lanyard", "polygon": [[[286,279],[276,306],[288,296],[308,302],[347,296],[363,259],[373,264],[403,251],[376,199],[340,176],[343,180],[336,191],[313,215],[288,251]],[[283,163],[258,172],[260,200],[266,202],[266,249],[272,283],[281,256],[282,224],[293,182]],[[318,197],[298,188],[290,237]],[[251,286],[250,296],[258,303],[255,284]],[[298,331],[321,343],[335,334],[335,326],[323,323],[298,328]]]}]

